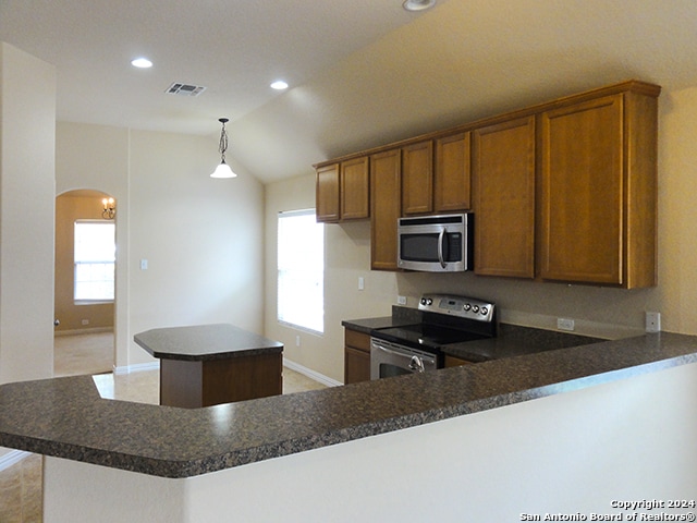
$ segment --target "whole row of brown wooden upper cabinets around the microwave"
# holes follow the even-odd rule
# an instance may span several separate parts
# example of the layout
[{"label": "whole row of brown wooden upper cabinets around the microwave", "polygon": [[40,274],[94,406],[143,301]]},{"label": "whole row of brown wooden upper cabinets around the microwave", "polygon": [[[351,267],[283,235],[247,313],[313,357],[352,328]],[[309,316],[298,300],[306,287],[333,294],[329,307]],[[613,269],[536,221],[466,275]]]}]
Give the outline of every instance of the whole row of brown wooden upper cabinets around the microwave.
[{"label": "whole row of brown wooden upper cabinets around the microwave", "polygon": [[317,219],[369,209],[371,267],[399,270],[400,217],[473,209],[478,275],[656,285],[660,92],[623,82],[322,162]]}]

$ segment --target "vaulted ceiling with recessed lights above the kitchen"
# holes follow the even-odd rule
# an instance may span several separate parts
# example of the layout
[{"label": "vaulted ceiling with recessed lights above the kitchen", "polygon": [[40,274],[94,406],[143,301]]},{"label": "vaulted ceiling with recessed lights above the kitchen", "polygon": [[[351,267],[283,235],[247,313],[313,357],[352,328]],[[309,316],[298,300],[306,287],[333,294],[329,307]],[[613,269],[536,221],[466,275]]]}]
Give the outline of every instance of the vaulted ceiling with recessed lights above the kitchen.
[{"label": "vaulted ceiling with recessed lights above the kitchen", "polygon": [[229,161],[265,182],[628,78],[697,85],[696,27],[694,0],[0,0],[0,40],[57,68],[59,120],[210,135],[215,155],[227,117]]}]

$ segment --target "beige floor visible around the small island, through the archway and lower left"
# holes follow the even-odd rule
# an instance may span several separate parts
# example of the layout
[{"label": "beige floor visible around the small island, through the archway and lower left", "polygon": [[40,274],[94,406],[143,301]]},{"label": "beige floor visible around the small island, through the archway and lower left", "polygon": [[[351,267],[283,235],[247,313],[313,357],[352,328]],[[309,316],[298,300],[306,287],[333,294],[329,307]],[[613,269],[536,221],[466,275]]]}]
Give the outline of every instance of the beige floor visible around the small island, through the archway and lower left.
[{"label": "beige floor visible around the small island, through the archway and lower left", "polygon": [[[113,336],[110,332],[61,336],[54,340],[56,376],[95,375],[95,384],[105,398],[138,403],[159,401],[157,370],[114,376]],[[288,367],[283,368],[283,393],[322,389],[319,384]],[[40,523],[41,457],[27,454],[19,463],[0,471],[0,523]]]}]

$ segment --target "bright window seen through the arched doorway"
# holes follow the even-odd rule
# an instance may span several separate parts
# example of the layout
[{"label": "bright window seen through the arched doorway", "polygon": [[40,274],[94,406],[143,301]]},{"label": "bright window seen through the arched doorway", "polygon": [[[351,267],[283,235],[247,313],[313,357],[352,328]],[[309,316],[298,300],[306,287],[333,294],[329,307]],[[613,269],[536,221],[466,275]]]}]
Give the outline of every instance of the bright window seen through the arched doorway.
[{"label": "bright window seen through the arched doorway", "polygon": [[75,222],[75,302],[113,301],[113,221]]}]

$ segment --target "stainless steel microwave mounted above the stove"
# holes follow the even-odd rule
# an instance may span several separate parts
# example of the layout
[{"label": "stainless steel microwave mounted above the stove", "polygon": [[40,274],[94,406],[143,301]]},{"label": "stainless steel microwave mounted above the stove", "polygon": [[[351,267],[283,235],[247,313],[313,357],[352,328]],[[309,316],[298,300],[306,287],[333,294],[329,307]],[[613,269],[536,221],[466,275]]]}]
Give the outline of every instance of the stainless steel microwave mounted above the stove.
[{"label": "stainless steel microwave mounted above the stove", "polygon": [[421,216],[398,220],[398,267],[426,272],[473,268],[474,215]]}]

